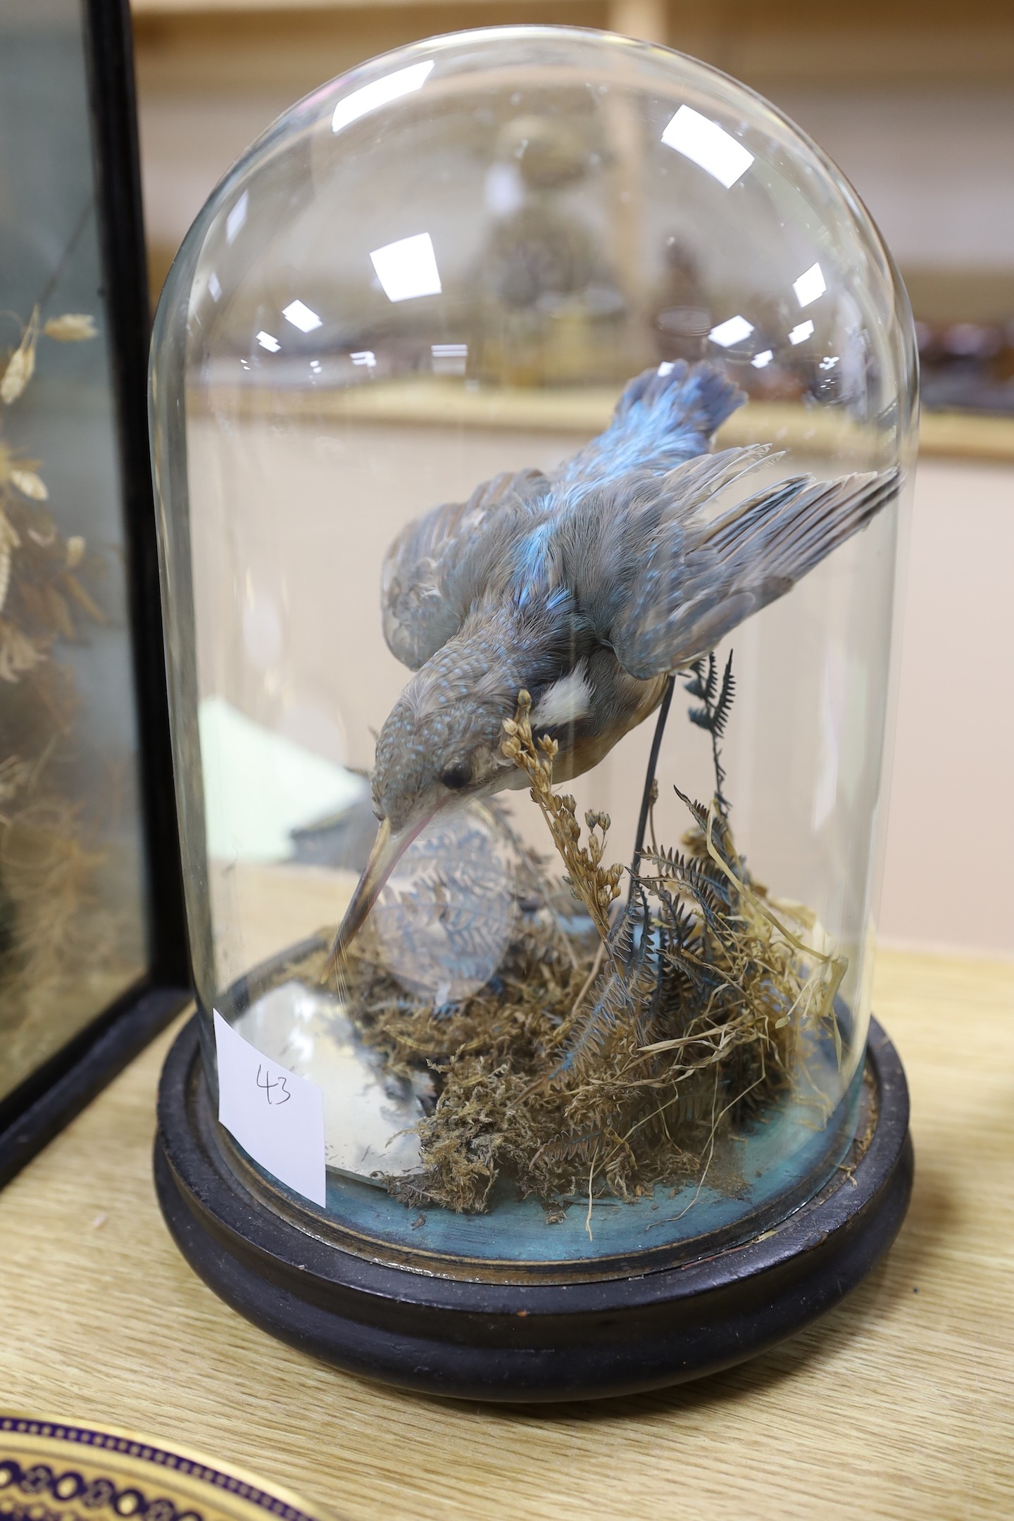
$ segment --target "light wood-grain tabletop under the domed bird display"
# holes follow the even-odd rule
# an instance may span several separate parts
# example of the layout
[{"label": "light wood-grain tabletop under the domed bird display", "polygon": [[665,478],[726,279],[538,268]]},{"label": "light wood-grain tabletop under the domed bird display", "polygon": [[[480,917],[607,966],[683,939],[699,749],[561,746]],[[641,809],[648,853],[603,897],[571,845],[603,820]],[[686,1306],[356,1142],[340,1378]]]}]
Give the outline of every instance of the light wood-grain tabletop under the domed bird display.
[{"label": "light wood-grain tabletop under the domed bird display", "polygon": [[912,1208],[844,1305],[698,1384],[559,1407],[403,1395],[246,1325],[151,1182],[140,1057],[0,1194],[0,1408],[161,1436],[354,1518],[1014,1516],[1014,966],[883,952]]}]

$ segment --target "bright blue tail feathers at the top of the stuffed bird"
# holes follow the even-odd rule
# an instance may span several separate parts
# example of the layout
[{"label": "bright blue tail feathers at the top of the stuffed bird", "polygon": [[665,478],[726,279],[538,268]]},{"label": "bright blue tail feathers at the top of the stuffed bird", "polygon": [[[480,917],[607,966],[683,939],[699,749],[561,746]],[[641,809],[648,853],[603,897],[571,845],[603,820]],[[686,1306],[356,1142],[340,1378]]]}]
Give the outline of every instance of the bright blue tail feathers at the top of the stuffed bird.
[{"label": "bright blue tail feathers at the top of the stuffed bird", "polygon": [[631,470],[661,476],[711,447],[711,435],[746,400],[715,365],[645,370],[623,389],[613,421],[559,470],[566,494],[607,487]]}]

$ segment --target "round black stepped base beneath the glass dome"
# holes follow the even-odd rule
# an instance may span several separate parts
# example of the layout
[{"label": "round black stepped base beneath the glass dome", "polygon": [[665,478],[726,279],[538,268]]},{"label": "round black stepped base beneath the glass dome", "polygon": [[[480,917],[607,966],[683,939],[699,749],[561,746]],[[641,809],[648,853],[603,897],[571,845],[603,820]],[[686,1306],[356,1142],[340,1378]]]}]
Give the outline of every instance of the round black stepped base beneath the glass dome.
[{"label": "round black stepped base beneath the glass dome", "polygon": [[871,1132],[815,1199],[753,1241],[642,1276],[471,1282],[374,1262],[307,1235],[230,1170],[196,1021],[163,1072],[155,1182],[169,1229],[204,1281],[315,1357],[468,1399],[632,1393],[774,1346],[838,1303],[889,1247],[912,1189],[912,1144],[905,1072],[876,1021],[867,1063]]}]

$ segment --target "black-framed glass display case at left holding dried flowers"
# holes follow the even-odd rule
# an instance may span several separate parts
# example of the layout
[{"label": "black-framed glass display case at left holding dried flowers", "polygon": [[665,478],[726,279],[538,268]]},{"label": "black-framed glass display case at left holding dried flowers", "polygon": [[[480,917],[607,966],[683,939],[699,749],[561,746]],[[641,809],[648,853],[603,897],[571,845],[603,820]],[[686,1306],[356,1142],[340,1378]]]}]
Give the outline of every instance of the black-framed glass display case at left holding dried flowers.
[{"label": "black-framed glass display case at left holding dried flowers", "polygon": [[0,18],[0,1182],[187,999],[129,21]]}]

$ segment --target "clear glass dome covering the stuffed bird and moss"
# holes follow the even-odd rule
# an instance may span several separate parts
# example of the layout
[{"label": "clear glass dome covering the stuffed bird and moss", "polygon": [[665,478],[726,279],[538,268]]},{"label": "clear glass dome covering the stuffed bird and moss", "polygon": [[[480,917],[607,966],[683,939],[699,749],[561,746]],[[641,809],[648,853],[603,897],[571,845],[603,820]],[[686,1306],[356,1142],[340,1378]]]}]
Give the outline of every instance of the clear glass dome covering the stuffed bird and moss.
[{"label": "clear glass dome covering the stuffed bird and moss", "polygon": [[228,173],[152,429],[207,1078],[263,1202],[607,1276],[830,1177],[914,408],[856,195],[666,49],[420,43]]}]

